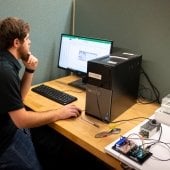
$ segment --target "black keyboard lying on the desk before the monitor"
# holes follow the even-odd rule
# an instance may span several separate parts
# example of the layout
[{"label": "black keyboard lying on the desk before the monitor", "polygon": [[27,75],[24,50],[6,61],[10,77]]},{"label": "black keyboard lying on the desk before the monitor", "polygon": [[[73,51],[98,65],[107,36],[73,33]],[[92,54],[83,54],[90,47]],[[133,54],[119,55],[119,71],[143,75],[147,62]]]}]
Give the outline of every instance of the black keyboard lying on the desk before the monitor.
[{"label": "black keyboard lying on the desk before the monitor", "polygon": [[31,90],[62,105],[66,105],[77,100],[77,97],[75,96],[72,96],[44,84],[33,87]]}]

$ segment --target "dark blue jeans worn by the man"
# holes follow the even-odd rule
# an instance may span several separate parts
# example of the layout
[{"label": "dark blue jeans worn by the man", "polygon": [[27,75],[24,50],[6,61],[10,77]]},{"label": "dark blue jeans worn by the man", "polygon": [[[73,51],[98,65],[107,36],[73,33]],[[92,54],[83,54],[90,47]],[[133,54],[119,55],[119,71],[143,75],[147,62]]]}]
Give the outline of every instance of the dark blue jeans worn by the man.
[{"label": "dark blue jeans worn by the man", "polygon": [[29,131],[18,129],[0,156],[0,170],[42,170]]}]

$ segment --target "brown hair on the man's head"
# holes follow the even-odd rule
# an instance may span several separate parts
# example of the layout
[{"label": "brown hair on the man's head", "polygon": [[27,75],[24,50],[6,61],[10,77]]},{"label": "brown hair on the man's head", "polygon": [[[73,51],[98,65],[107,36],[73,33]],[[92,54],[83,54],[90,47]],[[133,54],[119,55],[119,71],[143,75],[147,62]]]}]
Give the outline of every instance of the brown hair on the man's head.
[{"label": "brown hair on the man's head", "polygon": [[0,20],[0,49],[7,50],[12,47],[16,38],[24,41],[29,31],[29,24],[22,19],[8,17]]}]

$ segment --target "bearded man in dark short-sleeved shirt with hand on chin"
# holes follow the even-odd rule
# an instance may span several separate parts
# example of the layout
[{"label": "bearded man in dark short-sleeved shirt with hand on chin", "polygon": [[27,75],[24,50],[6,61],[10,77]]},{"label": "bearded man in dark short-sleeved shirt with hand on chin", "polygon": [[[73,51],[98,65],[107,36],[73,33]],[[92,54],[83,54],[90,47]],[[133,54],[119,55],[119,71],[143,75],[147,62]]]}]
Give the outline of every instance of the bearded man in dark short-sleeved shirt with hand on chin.
[{"label": "bearded man in dark short-sleeved shirt with hand on chin", "polygon": [[[23,99],[38,65],[38,59],[30,52],[29,31],[28,23],[22,19],[8,17],[0,20],[0,169],[42,169],[30,135],[24,128],[78,117],[81,112],[74,105],[46,112],[25,109]],[[21,79],[19,60],[25,66]]]}]

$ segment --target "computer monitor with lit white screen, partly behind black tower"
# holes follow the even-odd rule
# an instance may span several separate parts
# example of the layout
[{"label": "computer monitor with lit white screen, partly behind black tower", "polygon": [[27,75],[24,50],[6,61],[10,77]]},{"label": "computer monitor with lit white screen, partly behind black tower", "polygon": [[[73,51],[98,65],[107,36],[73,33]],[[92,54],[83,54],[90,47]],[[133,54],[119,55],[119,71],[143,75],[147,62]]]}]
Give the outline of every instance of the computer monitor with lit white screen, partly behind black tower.
[{"label": "computer monitor with lit white screen, partly behind black tower", "polygon": [[69,70],[81,79],[70,85],[84,88],[89,60],[111,53],[112,40],[61,34],[58,67]]}]

